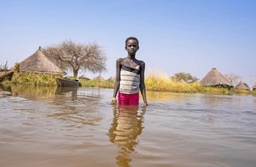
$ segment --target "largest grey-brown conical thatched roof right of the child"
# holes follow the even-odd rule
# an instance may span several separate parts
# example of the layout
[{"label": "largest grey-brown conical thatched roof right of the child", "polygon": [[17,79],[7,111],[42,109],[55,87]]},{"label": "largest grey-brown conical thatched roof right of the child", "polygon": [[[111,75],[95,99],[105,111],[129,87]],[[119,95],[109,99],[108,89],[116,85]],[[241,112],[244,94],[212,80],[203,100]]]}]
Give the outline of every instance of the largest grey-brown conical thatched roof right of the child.
[{"label": "largest grey-brown conical thatched roof right of the child", "polygon": [[228,86],[233,87],[233,85],[228,81],[228,79],[222,75],[217,69],[213,68],[210,70],[205,77],[200,81],[200,84],[204,86]]}]

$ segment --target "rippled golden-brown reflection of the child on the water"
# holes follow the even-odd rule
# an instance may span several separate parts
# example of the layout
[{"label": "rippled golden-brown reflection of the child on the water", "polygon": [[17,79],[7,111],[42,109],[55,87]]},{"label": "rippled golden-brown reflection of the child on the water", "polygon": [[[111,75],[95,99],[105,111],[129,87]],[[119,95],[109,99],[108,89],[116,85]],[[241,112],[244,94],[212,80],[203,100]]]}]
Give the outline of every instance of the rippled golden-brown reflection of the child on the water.
[{"label": "rippled golden-brown reflection of the child on the water", "polygon": [[139,111],[139,106],[113,107],[113,121],[109,127],[109,142],[117,145],[118,166],[130,166],[131,154],[138,145],[138,137],[142,133],[146,107]]}]

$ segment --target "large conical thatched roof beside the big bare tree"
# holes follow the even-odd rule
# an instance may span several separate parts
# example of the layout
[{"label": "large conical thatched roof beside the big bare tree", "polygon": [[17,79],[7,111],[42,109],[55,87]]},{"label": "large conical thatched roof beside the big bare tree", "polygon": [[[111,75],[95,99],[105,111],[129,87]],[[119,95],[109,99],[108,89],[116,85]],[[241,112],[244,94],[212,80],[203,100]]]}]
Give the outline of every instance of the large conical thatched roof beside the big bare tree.
[{"label": "large conical thatched roof beside the big bare tree", "polygon": [[41,52],[40,47],[34,54],[19,63],[19,70],[22,72],[64,74],[64,70],[58,68],[53,62],[50,62]]}]

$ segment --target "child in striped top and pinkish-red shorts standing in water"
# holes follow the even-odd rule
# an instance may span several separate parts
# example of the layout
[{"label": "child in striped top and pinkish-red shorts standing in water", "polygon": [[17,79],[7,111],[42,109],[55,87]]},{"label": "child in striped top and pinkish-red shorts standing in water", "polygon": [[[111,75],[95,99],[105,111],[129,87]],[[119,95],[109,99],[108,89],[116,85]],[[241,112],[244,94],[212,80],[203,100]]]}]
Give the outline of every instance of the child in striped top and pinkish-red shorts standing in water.
[{"label": "child in striped top and pinkish-red shorts standing in water", "polygon": [[127,57],[117,59],[116,82],[111,104],[139,105],[140,91],[144,105],[147,106],[144,81],[145,62],[135,58],[136,52],[139,50],[139,40],[135,37],[128,37],[125,40],[125,50],[128,53]]}]

